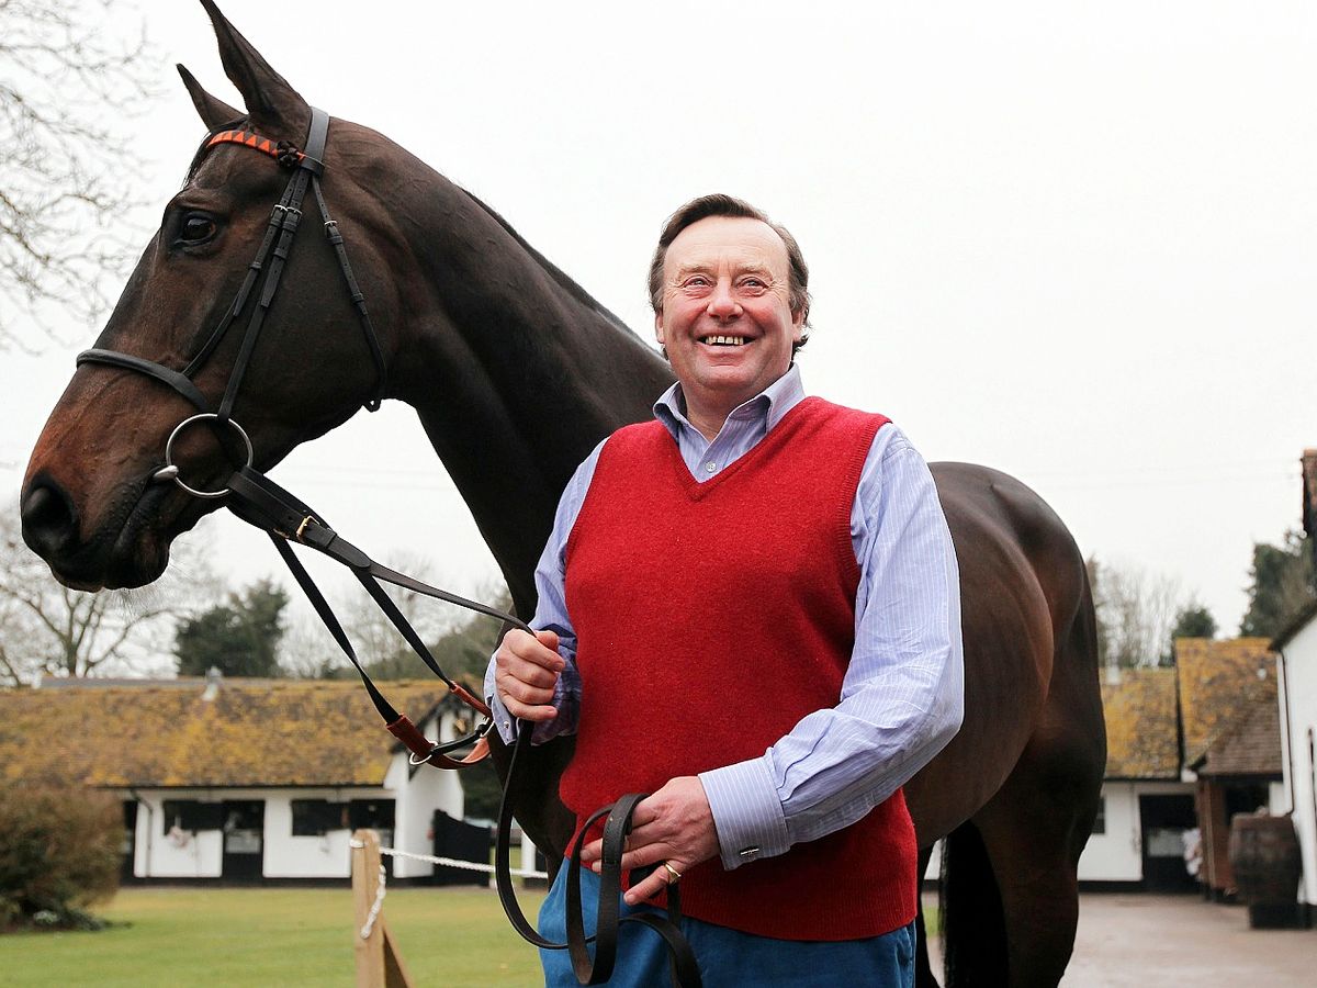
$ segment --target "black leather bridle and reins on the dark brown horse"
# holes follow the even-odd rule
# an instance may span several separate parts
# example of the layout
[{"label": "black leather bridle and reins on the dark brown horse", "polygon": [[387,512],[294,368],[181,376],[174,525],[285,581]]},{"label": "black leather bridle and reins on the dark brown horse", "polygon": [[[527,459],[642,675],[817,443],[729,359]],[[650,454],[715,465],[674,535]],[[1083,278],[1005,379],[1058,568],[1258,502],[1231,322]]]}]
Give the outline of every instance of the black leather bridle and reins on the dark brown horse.
[{"label": "black leather bridle and reins on the dark brown horse", "polygon": [[[279,198],[278,204],[270,213],[270,220],[266,224],[261,246],[257,250],[255,258],[250,265],[248,265],[246,275],[233,299],[233,304],[225,310],[219,325],[215,327],[209,337],[207,337],[205,343],[198,350],[196,356],[192,357],[192,360],[188,361],[187,366],[182,370],[174,370],[163,364],[145,357],[137,357],[105,348],[94,348],[82,352],[78,354],[78,366],[82,366],[83,364],[101,364],[119,368],[121,370],[132,370],[145,374],[171,387],[198,410],[196,414],[183,419],[174,427],[165,443],[165,464],[151,472],[150,480],[153,482],[174,482],[187,494],[196,498],[225,498],[225,506],[234,515],[265,531],[274,543],[279,556],[287,564],[294,578],[307,594],[312,607],[315,607],[316,614],[324,622],[335,642],[352,661],[353,667],[356,667],[357,673],[361,676],[361,681],[366,688],[366,693],[370,696],[371,702],[375,705],[375,710],[385,721],[386,728],[390,734],[398,738],[404,747],[407,747],[410,752],[408,760],[411,764],[431,764],[436,768],[462,768],[481,761],[489,754],[487,734],[493,726],[493,717],[489,706],[479,697],[471,694],[470,690],[460,682],[450,678],[443,668],[440,668],[420,635],[416,634],[415,628],[412,628],[412,626],[403,617],[402,611],[398,610],[398,606],[385,591],[383,586],[381,586],[381,581],[485,614],[502,620],[506,626],[520,628],[529,634],[535,632],[524,620],[512,614],[507,614],[477,601],[466,599],[465,597],[449,593],[448,590],[431,586],[429,584],[404,573],[399,573],[371,560],[370,556],[331,528],[311,507],[277,485],[263,473],[254,469],[252,440],[246,431],[233,419],[233,404],[237,399],[238,389],[242,383],[242,378],[246,375],[248,366],[252,362],[252,356],[255,350],[261,328],[265,324],[266,314],[269,312],[275,291],[279,287],[279,279],[292,249],[298,227],[302,221],[302,203],[308,186],[315,194],[316,206],[324,221],[325,237],[335,248],[338,267],[348,287],[349,299],[357,308],[357,315],[361,321],[366,343],[375,362],[375,389],[370,399],[363,403],[363,407],[367,411],[378,410],[385,395],[387,366],[383,350],[379,345],[379,339],[375,335],[375,328],[370,321],[365,296],[357,285],[357,278],[348,261],[348,250],[344,244],[342,234],[338,232],[338,224],[333,220],[333,217],[331,217],[329,207],[325,203],[324,194],[320,188],[320,177],[324,174],[324,149],[328,133],[329,115],[323,109],[312,107],[311,128],[307,134],[304,150],[295,148],[287,141],[274,142],[255,134],[252,130],[244,129],[223,130],[211,136],[207,140],[205,146],[202,149],[202,154],[205,154],[211,148],[221,144],[237,144],[267,154],[275,158],[282,167],[292,171],[292,175],[283,190],[283,195]],[[263,282],[261,282],[262,274]],[[195,383],[196,374],[200,373],[211,354],[215,353],[229,328],[248,308],[248,302],[253,298],[253,292],[257,288],[258,282],[261,282],[259,295],[257,296],[255,304],[252,307],[252,314],[248,319],[246,331],[244,332],[233,370],[229,373],[224,395],[221,397],[219,404],[212,408],[205,395],[202,394],[200,389]],[[190,425],[204,422],[211,422],[220,427],[228,425],[232,429],[233,436],[241,443],[241,447],[233,447],[233,444],[229,443],[224,444],[224,449],[227,452],[232,452],[232,449],[237,448],[242,452],[242,458],[245,458],[245,462],[233,470],[225,486],[219,490],[200,490],[190,486],[183,481],[179,466],[174,462],[174,445],[179,435]],[[406,714],[399,714],[383,697],[375,684],[371,682],[370,676],[362,667],[352,642],[344,632],[342,626],[335,617],[333,610],[324,598],[324,594],[316,586],[315,581],[302,565],[302,561],[294,553],[290,545],[290,543],[294,541],[316,549],[317,552],[348,566],[358,582],[361,582],[362,588],[365,588],[366,593],[370,594],[371,599],[374,599],[374,602],[385,613],[385,617],[389,618],[390,623],[392,623],[399,634],[406,639],[407,644],[411,645],[412,651],[416,652],[431,672],[443,680],[453,696],[485,717],[483,723],[464,738],[439,743],[427,739],[420,728],[417,728]],[[631,815],[636,805],[644,798],[645,793],[631,793],[628,796],[623,796],[615,804],[602,808],[585,822],[577,834],[568,863],[568,941],[565,943],[557,943],[545,939],[525,918],[516,901],[516,894],[512,887],[511,825],[514,808],[511,793],[514,792],[514,779],[516,777],[518,767],[525,764],[525,750],[529,747],[531,732],[531,723],[518,721],[516,743],[512,747],[512,757],[508,764],[507,782],[503,788],[503,798],[499,806],[498,819],[495,880],[498,884],[499,898],[508,919],[512,922],[512,926],[524,939],[529,941],[536,947],[543,950],[568,950],[572,955],[572,964],[581,984],[602,984],[612,975],[614,962],[616,958],[619,925],[624,922],[637,922],[655,930],[668,945],[668,948],[672,952],[670,972],[673,984],[678,988],[699,988],[701,976],[694,952],[678,926],[678,921],[681,918],[681,896],[676,884],[668,887],[666,916],[658,916],[656,913],[635,913],[632,916],[619,917],[618,914],[622,884],[622,855],[627,834],[631,833]],[[465,757],[452,756],[452,752],[466,747],[470,747],[471,750]],[[581,910],[581,850],[587,839],[587,835],[591,833],[591,827],[605,817],[607,819],[603,827],[598,922],[595,934],[593,937],[587,937],[585,934]],[[594,943],[593,956],[587,946],[591,942]]]}]

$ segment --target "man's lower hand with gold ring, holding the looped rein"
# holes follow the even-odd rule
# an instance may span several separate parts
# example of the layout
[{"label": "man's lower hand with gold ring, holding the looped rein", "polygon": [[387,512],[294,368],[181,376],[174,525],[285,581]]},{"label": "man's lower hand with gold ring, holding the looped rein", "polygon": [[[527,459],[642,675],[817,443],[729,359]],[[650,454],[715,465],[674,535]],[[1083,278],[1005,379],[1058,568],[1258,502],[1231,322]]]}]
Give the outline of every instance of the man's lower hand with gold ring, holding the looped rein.
[{"label": "man's lower hand with gold ring, holding the looped rein", "polygon": [[[714,814],[709,809],[705,786],[694,776],[673,779],[662,789],[641,800],[631,815],[631,834],[627,851],[622,855],[622,869],[657,864],[644,881],[632,885],[624,896],[627,905],[635,905],[662,892],[669,883],[666,862],[680,875],[718,854],[718,831]],[[599,871],[598,860],[603,842],[594,840],[581,850],[581,860]]]}]

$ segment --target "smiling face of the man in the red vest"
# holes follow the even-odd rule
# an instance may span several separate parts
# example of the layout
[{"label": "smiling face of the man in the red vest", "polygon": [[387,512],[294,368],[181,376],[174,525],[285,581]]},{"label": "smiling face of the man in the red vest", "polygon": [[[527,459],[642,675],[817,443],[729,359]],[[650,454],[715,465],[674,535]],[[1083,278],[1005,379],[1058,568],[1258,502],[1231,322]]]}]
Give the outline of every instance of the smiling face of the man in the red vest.
[{"label": "smiling face of the man in the red vest", "polygon": [[789,270],[773,228],[740,216],[693,223],[668,248],[655,332],[693,422],[718,416],[722,427],[786,373],[803,323],[803,314],[792,315]]}]

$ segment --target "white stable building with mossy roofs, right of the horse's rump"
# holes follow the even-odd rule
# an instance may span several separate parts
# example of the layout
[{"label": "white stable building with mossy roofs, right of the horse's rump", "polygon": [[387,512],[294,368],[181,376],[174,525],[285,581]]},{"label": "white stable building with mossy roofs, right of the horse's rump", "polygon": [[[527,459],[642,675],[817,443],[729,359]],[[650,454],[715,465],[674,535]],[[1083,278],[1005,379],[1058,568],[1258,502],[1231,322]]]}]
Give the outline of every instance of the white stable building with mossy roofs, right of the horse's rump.
[{"label": "white stable building with mossy roofs, right of the horse's rump", "polygon": [[1276,696],[1264,638],[1181,638],[1173,668],[1108,669],[1106,776],[1080,881],[1233,898],[1230,819],[1288,806]]}]

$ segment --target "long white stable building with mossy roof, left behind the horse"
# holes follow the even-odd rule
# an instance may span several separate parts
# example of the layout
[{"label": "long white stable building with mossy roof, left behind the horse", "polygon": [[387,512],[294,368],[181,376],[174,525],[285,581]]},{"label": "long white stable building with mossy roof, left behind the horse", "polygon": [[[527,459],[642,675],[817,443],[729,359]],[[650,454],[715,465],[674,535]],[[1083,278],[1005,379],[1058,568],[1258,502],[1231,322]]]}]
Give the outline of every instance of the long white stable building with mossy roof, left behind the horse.
[{"label": "long white stable building with mossy roof, left behind the horse", "polygon": [[[428,738],[469,730],[443,684],[389,682]],[[358,682],[46,680],[0,690],[0,775],[109,790],[124,804],[124,877],[346,880],[356,827],[435,852],[462,819],[456,772],[412,765]],[[433,865],[390,859],[398,877]]]}]

